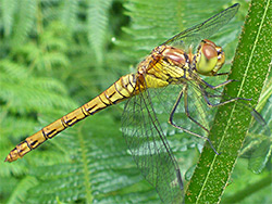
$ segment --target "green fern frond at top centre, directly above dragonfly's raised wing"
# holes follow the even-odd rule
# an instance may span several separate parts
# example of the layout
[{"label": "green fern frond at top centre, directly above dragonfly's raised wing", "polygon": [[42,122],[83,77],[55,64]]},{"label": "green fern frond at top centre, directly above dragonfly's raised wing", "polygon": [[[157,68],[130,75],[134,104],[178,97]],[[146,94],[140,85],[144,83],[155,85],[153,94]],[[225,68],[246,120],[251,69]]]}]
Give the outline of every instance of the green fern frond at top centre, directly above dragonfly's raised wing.
[{"label": "green fern frond at top centre, directly above dragonfly's raised wing", "polygon": [[[175,34],[211,17],[227,3],[231,1],[186,0],[182,3],[178,0],[128,1],[125,3],[126,14],[132,17],[133,23],[132,27],[123,30],[131,36],[131,39],[116,43],[129,48],[126,52],[129,56],[140,59]],[[227,30],[227,27],[224,30]],[[132,49],[135,52],[132,52]]]}]

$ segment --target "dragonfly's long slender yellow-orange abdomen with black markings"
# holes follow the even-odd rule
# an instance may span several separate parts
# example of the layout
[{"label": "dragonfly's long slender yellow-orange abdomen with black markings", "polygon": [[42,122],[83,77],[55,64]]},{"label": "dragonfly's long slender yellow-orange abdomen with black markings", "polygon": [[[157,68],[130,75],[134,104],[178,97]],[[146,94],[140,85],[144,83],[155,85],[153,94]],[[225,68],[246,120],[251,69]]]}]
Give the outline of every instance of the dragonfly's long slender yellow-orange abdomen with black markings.
[{"label": "dragonfly's long slender yellow-orange abdomen with black markings", "polygon": [[134,94],[137,94],[136,76],[134,74],[122,76],[118,81],[88,103],[26,138],[10,152],[5,162],[13,162],[23,157],[26,153],[36,149],[46,140],[52,139],[67,127],[71,127],[87,116],[94,115],[97,112],[112,104],[116,104]]}]

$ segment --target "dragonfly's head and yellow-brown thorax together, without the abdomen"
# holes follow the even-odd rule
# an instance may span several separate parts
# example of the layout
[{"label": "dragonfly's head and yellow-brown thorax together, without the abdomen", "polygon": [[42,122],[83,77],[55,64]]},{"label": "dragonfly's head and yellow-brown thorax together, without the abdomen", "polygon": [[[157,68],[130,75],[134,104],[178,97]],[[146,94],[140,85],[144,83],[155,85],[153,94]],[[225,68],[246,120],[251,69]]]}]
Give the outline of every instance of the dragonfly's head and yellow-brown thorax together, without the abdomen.
[{"label": "dragonfly's head and yellow-brown thorax together, without the abdomen", "polygon": [[138,76],[145,78],[147,88],[164,87],[169,84],[182,84],[185,80],[198,80],[199,75],[214,76],[224,64],[221,47],[210,40],[202,40],[193,53],[168,44],[156,47],[138,65]]}]

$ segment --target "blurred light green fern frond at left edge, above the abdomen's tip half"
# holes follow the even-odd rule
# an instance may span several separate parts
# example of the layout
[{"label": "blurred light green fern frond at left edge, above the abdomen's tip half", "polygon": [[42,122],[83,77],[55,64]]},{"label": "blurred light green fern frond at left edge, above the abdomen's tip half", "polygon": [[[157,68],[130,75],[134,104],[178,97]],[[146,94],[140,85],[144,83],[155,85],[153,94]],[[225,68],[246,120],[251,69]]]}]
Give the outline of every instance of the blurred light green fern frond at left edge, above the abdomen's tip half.
[{"label": "blurred light green fern frond at left edge, above the abdomen's tip half", "polygon": [[[41,80],[41,84],[39,82]],[[13,80],[1,75],[0,99],[9,102],[9,110],[17,113],[45,112],[54,107],[75,109],[77,105],[65,97],[62,85],[54,79],[32,78]],[[35,87],[35,89],[34,89]],[[57,90],[57,91],[55,91]],[[64,95],[60,98],[60,92]],[[42,111],[44,110],[44,111]]]}]

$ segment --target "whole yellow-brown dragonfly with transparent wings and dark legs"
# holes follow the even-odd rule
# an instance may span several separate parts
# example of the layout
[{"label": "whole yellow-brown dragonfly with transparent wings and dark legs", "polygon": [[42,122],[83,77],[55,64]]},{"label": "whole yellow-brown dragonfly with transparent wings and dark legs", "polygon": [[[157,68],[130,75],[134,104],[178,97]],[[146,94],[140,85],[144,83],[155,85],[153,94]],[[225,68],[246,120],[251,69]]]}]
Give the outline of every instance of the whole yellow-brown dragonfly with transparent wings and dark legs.
[{"label": "whole yellow-brown dragonfly with transparent wings and dark legs", "polygon": [[[181,203],[184,197],[181,170],[163,132],[156,104],[161,104],[161,110],[168,113],[170,125],[207,140],[215,154],[219,154],[208,137],[182,127],[176,117],[183,112],[190,123],[209,133],[209,125],[202,123],[207,119],[199,111],[201,106],[197,104],[214,107],[246,100],[230,98],[215,102],[214,99],[221,99],[218,90],[233,80],[212,86],[202,78],[227,74],[219,73],[225,61],[224,51],[208,38],[227,24],[238,8],[238,3],[233,4],[156,47],[138,64],[136,73],[122,76],[91,101],[26,138],[9,153],[5,162],[23,157],[87,116],[126,101],[122,115],[122,132],[137,167],[156,188],[162,202]],[[174,93],[175,98],[171,98],[169,93]],[[194,99],[193,93],[197,99]],[[194,114],[191,110],[199,114]]]}]

